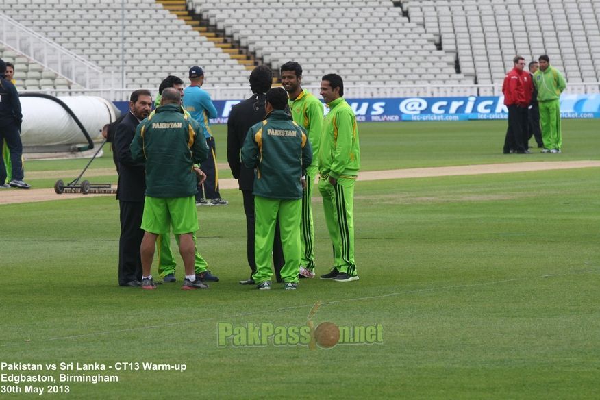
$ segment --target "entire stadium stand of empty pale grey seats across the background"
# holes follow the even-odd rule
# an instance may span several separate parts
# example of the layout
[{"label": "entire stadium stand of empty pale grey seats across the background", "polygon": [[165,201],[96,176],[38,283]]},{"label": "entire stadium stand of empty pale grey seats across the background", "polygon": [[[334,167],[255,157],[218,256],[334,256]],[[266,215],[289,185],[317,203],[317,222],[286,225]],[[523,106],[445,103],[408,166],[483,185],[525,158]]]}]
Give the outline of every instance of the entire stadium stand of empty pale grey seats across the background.
[{"label": "entire stadium stand of empty pale grey seats across the background", "polygon": [[[239,49],[203,34],[187,10],[169,12],[166,4],[175,2],[125,2],[124,10],[114,0],[0,6],[108,73],[120,74],[123,65],[129,88],[156,88],[166,75],[186,77],[190,66],[201,65],[207,89],[231,89],[219,98],[243,96],[251,65],[236,59]],[[275,71],[296,60],[305,86],[335,71],[347,86],[360,86],[362,97],[497,95],[517,53],[527,60],[547,53],[571,84],[600,80],[599,0],[187,0],[186,7]],[[32,68],[17,66],[27,73],[18,75],[22,87],[50,87],[50,73]]]}]

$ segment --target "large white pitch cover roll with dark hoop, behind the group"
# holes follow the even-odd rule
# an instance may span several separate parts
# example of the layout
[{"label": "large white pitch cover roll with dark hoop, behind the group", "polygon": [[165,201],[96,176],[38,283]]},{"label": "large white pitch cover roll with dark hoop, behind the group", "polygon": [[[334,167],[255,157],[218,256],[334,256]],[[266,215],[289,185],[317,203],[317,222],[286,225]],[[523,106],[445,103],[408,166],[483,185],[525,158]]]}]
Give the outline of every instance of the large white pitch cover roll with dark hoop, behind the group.
[{"label": "large white pitch cover roll with dark hoop, behind the group", "polygon": [[[102,139],[102,127],[114,121],[118,110],[101,97],[58,97],[84,125],[95,142]],[[20,97],[23,110],[23,146],[77,145],[87,143],[82,129],[62,105],[44,97]]]}]

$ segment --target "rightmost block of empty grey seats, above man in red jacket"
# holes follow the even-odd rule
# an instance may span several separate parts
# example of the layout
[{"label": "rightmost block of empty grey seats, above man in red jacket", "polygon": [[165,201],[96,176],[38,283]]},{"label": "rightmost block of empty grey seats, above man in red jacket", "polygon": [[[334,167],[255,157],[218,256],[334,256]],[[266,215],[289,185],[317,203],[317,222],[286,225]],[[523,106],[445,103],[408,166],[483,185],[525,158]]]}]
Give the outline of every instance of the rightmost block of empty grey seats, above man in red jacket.
[{"label": "rightmost block of empty grey seats, above man in red jacket", "polygon": [[[478,84],[500,82],[512,57],[548,54],[568,82],[600,80],[600,2],[592,0],[402,1],[410,21],[456,56]],[[596,86],[597,90],[597,86]]]}]

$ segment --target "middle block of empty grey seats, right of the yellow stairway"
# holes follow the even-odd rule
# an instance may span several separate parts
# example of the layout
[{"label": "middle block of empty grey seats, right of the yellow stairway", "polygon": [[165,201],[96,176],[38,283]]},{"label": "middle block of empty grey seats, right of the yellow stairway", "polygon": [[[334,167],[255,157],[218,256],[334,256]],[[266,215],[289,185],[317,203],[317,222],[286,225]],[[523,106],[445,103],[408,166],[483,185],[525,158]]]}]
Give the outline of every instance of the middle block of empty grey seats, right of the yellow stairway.
[{"label": "middle block of empty grey seats, right of the yellow stairway", "polygon": [[[286,4],[289,3],[289,7]],[[392,1],[193,0],[189,7],[273,68],[296,60],[303,82],[336,72],[349,85],[473,84],[452,55]],[[240,12],[242,10],[242,12]]]}]

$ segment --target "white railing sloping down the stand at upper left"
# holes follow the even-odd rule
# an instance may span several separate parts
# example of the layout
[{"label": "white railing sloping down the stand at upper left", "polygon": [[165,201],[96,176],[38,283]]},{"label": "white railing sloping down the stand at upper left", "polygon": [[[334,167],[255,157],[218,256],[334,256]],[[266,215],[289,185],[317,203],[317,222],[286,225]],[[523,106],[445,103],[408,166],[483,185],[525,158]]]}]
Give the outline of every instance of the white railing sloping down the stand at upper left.
[{"label": "white railing sloping down the stand at upper left", "polygon": [[84,88],[121,86],[112,73],[103,73],[99,66],[3,14],[0,14],[0,42]]}]

